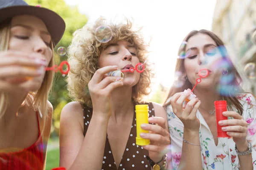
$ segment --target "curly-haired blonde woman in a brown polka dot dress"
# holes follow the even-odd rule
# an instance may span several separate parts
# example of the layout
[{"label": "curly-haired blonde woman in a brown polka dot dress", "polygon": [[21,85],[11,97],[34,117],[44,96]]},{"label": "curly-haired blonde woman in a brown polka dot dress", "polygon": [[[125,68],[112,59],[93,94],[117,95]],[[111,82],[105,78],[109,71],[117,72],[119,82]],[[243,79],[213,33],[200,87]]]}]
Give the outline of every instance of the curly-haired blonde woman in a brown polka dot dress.
[{"label": "curly-haired blonde woman in a brown polka dot dress", "polygon": [[[103,25],[113,33],[107,43],[95,37],[96,28]],[[150,139],[151,144],[141,147],[135,142],[135,105],[145,104],[143,96],[149,93],[152,76],[146,54],[145,42],[139,31],[132,30],[129,20],[106,25],[106,20],[100,18],[92,27],[86,25],[74,33],[67,82],[76,102],[68,103],[61,112],[61,166],[70,170],[150,170],[155,164],[164,167],[160,152],[170,144],[170,137],[162,106],[147,103],[151,124],[141,127],[151,133],[140,136]],[[144,62],[147,69],[143,73],[125,72],[121,82],[106,76]]]}]

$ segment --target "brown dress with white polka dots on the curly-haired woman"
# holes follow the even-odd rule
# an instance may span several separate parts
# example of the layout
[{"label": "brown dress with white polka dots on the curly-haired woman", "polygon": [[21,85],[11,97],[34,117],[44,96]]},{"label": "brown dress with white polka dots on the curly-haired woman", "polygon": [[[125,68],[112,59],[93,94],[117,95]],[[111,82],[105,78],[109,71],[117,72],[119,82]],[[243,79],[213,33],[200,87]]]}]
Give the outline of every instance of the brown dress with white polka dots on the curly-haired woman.
[{"label": "brown dress with white polka dots on the curly-haired woman", "polygon": [[[145,103],[148,105],[149,117],[155,116],[154,107],[152,103]],[[84,107],[84,136],[86,134],[87,128],[90,124],[90,119],[92,117],[93,109]],[[125,147],[121,162],[119,167],[116,167],[116,163],[113,158],[112,150],[108,141],[108,134],[106,138],[105,151],[102,161],[102,170],[151,170],[151,166],[146,159],[148,156],[148,150],[143,149],[143,147],[136,144],[136,113],[134,105],[134,119],[131,124],[131,132],[128,138],[128,142]]]}]

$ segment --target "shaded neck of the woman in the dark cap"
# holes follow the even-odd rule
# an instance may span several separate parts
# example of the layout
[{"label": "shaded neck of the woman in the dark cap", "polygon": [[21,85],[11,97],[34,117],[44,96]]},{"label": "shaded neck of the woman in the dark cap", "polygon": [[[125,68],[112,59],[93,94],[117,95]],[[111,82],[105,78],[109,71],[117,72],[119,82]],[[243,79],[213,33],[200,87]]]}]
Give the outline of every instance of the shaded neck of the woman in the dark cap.
[{"label": "shaded neck of the woman in the dark cap", "polygon": [[4,125],[11,120],[14,120],[17,116],[17,113],[24,112],[26,107],[23,106],[23,102],[28,95],[27,92],[9,92],[7,93],[7,100],[6,103],[7,108],[6,111],[3,113],[3,116],[0,117],[0,124]]}]

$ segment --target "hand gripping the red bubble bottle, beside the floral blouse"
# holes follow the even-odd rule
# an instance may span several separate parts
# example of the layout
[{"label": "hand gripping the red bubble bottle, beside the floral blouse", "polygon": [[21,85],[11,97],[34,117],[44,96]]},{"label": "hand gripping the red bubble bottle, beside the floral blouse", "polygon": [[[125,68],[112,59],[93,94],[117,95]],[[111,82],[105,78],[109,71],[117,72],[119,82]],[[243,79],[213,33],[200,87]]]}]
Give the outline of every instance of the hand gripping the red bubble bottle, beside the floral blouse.
[{"label": "hand gripping the red bubble bottle, beside the floral blouse", "polygon": [[247,146],[247,122],[244,117],[234,111],[225,111],[222,113],[224,116],[233,117],[234,119],[221,120],[218,122],[219,125],[224,126],[222,130],[227,132],[228,136],[233,137],[233,141],[237,146]]}]

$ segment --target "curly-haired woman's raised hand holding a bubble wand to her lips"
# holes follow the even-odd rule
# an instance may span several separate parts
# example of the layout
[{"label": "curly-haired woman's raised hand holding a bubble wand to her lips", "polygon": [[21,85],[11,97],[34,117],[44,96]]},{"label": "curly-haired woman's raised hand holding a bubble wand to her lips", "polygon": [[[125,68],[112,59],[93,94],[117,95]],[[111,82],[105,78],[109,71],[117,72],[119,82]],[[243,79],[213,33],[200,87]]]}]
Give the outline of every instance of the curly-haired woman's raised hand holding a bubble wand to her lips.
[{"label": "curly-haired woman's raised hand holding a bubble wand to her lips", "polygon": [[123,82],[114,82],[112,77],[106,77],[105,74],[116,70],[117,66],[112,65],[100,68],[88,83],[88,89],[93,103],[93,113],[103,116],[111,115],[111,91],[114,88],[122,86]]}]

